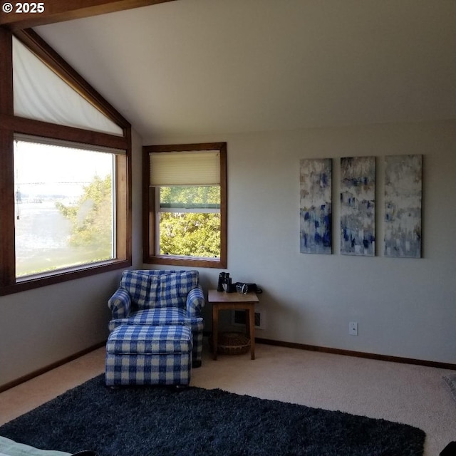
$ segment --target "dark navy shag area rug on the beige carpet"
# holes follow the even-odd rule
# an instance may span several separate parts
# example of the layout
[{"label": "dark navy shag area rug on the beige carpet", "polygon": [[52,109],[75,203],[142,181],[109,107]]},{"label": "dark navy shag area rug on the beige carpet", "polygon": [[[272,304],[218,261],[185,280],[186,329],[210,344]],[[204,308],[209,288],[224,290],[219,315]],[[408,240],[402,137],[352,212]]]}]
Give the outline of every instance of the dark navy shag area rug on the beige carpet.
[{"label": "dark navy shag area rug on the beige carpet", "polygon": [[421,456],[400,423],[202,388],[107,388],[104,375],[0,427],[46,450],[99,456]]}]

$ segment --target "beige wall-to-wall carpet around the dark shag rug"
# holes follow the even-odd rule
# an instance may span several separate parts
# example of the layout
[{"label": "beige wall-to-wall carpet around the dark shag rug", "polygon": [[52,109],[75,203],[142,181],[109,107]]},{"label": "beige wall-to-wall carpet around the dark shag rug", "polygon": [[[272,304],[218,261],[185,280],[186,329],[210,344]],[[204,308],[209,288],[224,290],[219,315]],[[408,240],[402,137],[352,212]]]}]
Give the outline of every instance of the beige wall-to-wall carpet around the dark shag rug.
[{"label": "beige wall-to-wall carpet around the dark shag rug", "polygon": [[[103,373],[104,349],[0,393],[0,425]],[[249,354],[204,353],[193,386],[342,410],[420,427],[425,456],[456,440],[456,402],[442,375],[452,371],[257,344]]]}]

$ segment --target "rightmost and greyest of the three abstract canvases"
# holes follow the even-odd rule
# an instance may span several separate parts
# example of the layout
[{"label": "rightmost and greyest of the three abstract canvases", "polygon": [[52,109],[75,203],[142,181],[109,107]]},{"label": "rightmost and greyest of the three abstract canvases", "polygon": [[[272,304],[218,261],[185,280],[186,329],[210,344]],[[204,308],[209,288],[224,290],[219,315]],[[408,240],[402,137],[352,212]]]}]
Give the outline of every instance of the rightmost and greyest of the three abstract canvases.
[{"label": "rightmost and greyest of the three abstract canvases", "polygon": [[385,157],[385,257],[421,257],[422,155]]}]

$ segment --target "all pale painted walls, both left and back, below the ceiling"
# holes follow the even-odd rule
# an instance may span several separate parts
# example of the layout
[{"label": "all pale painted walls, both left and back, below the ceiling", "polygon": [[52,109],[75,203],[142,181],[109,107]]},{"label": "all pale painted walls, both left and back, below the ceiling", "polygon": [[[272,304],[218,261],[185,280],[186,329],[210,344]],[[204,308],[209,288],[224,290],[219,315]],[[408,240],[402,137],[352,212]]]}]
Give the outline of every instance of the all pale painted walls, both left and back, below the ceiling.
[{"label": "all pale painted walls, both left and back, below the ceiling", "polygon": [[[228,269],[264,289],[257,336],[456,363],[456,122],[146,138],[144,144],[228,142]],[[133,265],[142,267],[141,145],[133,135]],[[299,159],[423,154],[423,258],[299,253]],[[378,160],[381,162],[381,160]],[[381,189],[378,189],[381,191]],[[380,199],[378,199],[380,201]],[[148,266],[146,266],[148,267]],[[201,269],[207,289],[219,271]],[[0,387],[107,336],[120,271],[0,297]],[[209,306],[205,309],[210,328]],[[359,336],[348,336],[358,321]]]}]

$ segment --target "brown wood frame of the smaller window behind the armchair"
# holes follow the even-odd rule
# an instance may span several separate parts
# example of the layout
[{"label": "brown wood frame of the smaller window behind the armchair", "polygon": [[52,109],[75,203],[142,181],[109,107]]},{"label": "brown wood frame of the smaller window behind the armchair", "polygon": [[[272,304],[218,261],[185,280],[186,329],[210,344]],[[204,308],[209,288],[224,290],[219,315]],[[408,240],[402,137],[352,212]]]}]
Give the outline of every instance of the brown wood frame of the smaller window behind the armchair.
[{"label": "brown wood frame of the smaller window behind the armchair", "polygon": [[[157,207],[155,188],[150,187],[150,153],[218,150],[220,154],[220,258],[157,255]],[[197,144],[146,145],[142,147],[142,261],[146,264],[192,266],[201,268],[227,267],[227,143],[204,142]]]}]

